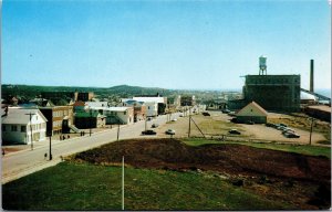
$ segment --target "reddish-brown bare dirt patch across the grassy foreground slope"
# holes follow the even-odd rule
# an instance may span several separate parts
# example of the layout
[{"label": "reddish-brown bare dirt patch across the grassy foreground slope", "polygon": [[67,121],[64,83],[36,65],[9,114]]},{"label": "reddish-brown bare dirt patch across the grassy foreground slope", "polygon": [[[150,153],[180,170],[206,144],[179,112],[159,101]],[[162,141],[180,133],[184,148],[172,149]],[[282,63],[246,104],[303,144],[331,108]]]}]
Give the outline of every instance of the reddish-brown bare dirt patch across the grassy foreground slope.
[{"label": "reddish-brown bare dirt patch across the grassy foreground slope", "polygon": [[176,139],[144,139],[112,142],[72,159],[118,165],[122,156],[126,165],[136,168],[216,171],[228,176],[235,186],[246,186],[261,195],[268,192],[271,198],[289,201],[300,209],[330,206],[331,165],[325,157],[241,145],[191,147]]}]

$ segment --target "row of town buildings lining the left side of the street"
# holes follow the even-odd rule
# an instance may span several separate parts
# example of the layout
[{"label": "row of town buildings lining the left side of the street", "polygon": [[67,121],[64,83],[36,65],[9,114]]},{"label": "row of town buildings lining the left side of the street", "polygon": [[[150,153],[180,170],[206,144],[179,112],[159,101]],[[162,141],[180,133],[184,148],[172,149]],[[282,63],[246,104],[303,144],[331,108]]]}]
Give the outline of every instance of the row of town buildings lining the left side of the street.
[{"label": "row of town buildings lining the left side of the street", "polygon": [[[69,97],[71,104],[55,106],[53,100]],[[167,104],[167,97],[157,95],[123,98],[120,103],[92,102],[93,93],[49,92],[42,93],[42,100],[29,104],[2,104],[2,142],[30,144],[45,140],[46,136],[79,132],[81,129],[101,128],[106,125],[132,125],[176,110],[181,100],[178,96],[175,104]],[[194,99],[191,97],[191,99]],[[185,104],[194,105],[194,100]],[[184,104],[184,103],[183,103]]]}]

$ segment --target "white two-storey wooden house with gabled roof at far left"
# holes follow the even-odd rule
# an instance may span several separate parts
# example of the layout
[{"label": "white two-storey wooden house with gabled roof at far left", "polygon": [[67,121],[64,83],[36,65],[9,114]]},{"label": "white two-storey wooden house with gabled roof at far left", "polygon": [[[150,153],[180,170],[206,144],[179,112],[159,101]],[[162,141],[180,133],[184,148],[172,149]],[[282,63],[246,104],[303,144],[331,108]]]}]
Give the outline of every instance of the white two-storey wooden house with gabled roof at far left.
[{"label": "white two-storey wooden house with gabled roof at far left", "polygon": [[48,119],[39,109],[9,107],[2,118],[3,144],[31,144],[45,140]]}]

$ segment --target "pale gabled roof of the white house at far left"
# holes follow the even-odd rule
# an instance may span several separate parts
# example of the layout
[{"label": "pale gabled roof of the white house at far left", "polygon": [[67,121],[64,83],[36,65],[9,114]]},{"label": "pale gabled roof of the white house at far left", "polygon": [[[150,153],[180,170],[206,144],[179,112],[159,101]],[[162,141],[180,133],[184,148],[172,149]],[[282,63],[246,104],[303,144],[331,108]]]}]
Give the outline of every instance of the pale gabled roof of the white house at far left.
[{"label": "pale gabled roof of the white house at far left", "polygon": [[9,107],[8,115],[2,117],[2,124],[28,125],[30,123],[30,116],[28,114],[30,113],[33,115],[38,114],[44,121],[48,121],[39,109]]}]

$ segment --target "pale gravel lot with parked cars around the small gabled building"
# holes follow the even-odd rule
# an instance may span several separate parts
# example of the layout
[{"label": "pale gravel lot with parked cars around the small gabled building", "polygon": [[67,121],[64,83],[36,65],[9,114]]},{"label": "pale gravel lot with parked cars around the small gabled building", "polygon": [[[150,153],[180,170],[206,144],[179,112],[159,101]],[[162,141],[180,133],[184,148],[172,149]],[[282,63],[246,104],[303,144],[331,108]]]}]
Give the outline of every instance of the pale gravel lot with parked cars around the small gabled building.
[{"label": "pale gravel lot with parked cars around the small gabled building", "polygon": [[[266,140],[266,141],[282,141],[282,142],[299,142],[299,144],[309,144],[310,139],[310,131],[305,131],[302,129],[297,129],[295,132],[300,135],[300,138],[286,138],[280,130],[274,128],[266,127],[264,125],[246,125],[246,124],[234,124],[230,121],[231,117],[222,114],[220,112],[209,112],[211,116],[203,116],[194,115],[191,116],[198,127],[201,129],[207,137],[217,136],[217,135],[228,135],[229,137],[235,137],[228,134],[229,129],[238,129],[241,131],[239,139],[257,139],[257,140]],[[283,115],[276,115],[271,114],[271,116],[283,116]],[[197,129],[195,124],[191,121],[190,127],[190,136],[193,137],[201,137],[203,135]],[[169,137],[165,135],[167,129],[175,129],[176,135],[175,137],[188,137],[188,129],[189,129],[189,118],[187,117],[179,117],[176,121],[170,121],[164,126],[159,126],[156,131],[158,137]],[[326,138],[319,132],[312,132],[312,144],[317,144],[318,141],[326,140]]]}]

